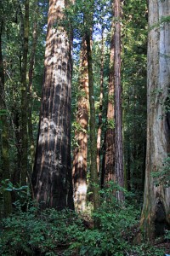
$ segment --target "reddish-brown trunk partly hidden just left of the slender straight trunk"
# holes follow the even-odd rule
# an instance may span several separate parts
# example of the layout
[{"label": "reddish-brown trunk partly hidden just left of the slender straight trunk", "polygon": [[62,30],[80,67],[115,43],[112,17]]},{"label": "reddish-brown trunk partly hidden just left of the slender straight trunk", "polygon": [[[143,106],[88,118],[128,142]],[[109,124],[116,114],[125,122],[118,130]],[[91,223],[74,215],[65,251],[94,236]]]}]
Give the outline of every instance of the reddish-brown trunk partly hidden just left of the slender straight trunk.
[{"label": "reddish-brown trunk partly hidden just left of the slender straight trunk", "polygon": [[110,74],[105,131],[105,170],[104,183],[115,181],[115,129],[114,129],[114,20],[111,25]]}]

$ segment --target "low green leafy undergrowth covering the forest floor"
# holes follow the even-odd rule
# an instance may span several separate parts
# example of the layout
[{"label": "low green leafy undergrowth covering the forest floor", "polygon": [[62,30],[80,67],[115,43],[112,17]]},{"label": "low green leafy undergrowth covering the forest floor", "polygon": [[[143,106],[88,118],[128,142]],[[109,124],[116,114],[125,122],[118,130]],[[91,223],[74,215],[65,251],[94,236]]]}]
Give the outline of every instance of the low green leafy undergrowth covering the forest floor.
[{"label": "low green leafy undergrowth covering the forest floor", "polygon": [[[2,221],[0,255],[163,255],[156,247],[133,245],[140,212],[129,200],[118,204],[110,189],[102,190],[101,195],[99,211],[88,217],[69,210],[40,211],[37,207],[22,212],[18,207]],[[98,229],[90,224],[90,218],[99,220]]]}]

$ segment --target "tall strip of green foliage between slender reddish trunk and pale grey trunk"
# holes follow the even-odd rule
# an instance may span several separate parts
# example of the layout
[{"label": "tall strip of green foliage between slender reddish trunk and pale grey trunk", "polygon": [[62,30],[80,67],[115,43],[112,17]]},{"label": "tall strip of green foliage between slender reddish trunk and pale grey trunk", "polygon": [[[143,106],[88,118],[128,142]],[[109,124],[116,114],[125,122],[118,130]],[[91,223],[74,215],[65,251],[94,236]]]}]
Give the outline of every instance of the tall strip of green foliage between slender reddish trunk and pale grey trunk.
[{"label": "tall strip of green foliage between slender reddish trunk and pale grey trunk", "polygon": [[147,1],[127,0],[122,8],[124,167],[130,177],[128,189],[139,198],[144,188],[146,147]]}]

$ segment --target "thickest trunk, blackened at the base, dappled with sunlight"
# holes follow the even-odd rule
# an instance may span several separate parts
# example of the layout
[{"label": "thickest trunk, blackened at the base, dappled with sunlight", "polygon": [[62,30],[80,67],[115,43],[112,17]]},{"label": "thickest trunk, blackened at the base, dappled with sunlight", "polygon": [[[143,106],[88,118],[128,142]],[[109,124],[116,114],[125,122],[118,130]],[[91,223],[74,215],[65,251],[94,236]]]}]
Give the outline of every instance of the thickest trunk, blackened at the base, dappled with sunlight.
[{"label": "thickest trunk, blackened at the base, dappled with sunlight", "polygon": [[[73,207],[71,38],[60,23],[65,0],[49,0],[42,105],[32,184],[41,207]],[[70,182],[70,183],[69,183]]]}]

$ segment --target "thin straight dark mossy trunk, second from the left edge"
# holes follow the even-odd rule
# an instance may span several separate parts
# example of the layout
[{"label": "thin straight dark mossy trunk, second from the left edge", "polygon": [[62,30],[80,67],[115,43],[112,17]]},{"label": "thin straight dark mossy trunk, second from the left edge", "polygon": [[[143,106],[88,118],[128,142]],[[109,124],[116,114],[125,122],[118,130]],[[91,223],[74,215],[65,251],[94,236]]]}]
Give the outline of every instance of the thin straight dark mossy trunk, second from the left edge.
[{"label": "thin straight dark mossy trunk, second from the left edge", "polygon": [[29,38],[29,0],[25,1],[25,23],[24,23],[24,44],[23,59],[21,69],[21,184],[26,184],[27,177],[27,84],[26,84],[26,67],[28,56],[28,38]]}]

